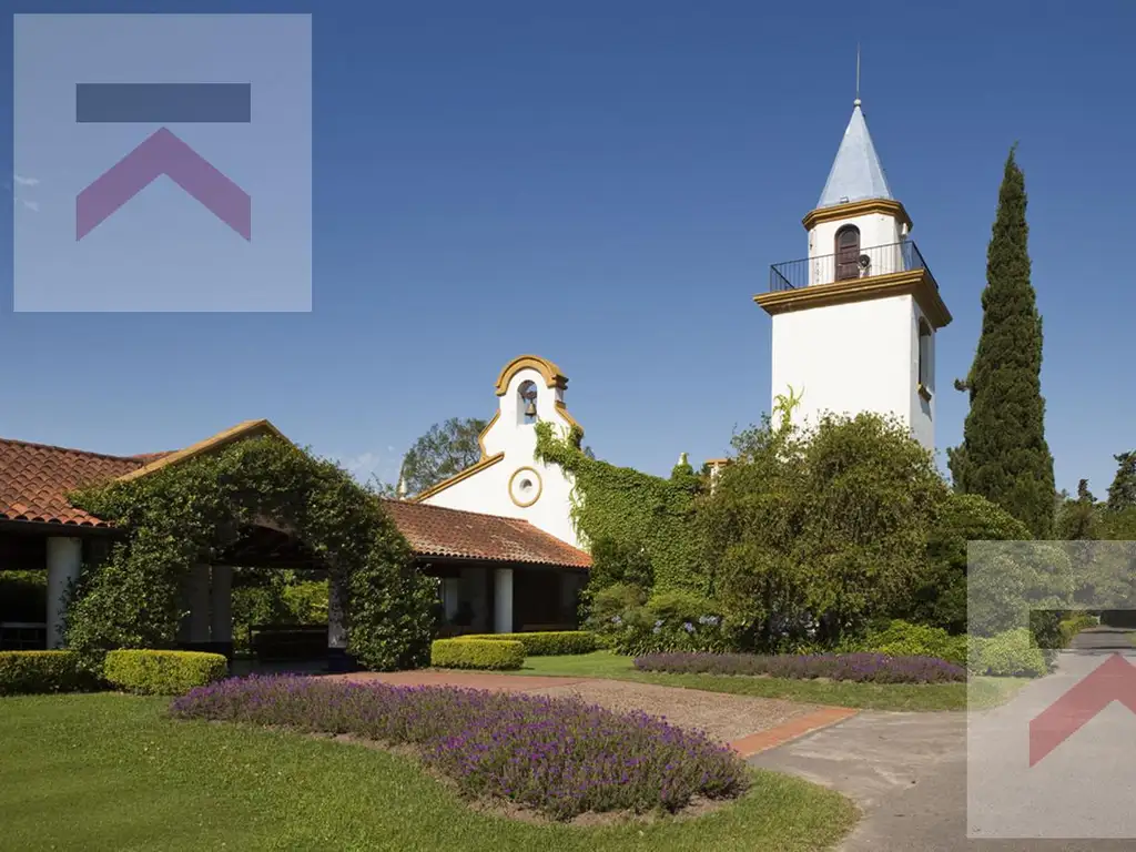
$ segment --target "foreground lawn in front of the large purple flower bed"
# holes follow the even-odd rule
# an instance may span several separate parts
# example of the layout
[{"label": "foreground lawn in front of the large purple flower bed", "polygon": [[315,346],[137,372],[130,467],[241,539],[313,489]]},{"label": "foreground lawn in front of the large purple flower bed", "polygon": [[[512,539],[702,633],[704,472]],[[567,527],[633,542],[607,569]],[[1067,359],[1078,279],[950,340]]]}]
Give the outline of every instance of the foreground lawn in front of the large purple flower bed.
[{"label": "foreground lawn in front of the large purple flower bed", "polygon": [[0,850],[826,849],[855,821],[830,791],[770,772],[696,819],[578,828],[478,813],[408,758],[235,725],[161,699],[0,699]]}]

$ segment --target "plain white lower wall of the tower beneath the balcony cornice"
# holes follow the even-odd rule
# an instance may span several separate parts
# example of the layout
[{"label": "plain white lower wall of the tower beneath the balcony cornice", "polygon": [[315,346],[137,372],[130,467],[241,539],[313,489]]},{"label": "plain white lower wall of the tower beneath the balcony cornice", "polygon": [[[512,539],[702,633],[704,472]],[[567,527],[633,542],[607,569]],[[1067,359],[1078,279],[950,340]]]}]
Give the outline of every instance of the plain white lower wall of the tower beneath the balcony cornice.
[{"label": "plain white lower wall of the tower beneath the balcony cornice", "polygon": [[815,424],[825,411],[892,414],[934,449],[933,409],[924,415],[916,406],[922,403],[918,318],[910,295],[776,315],[774,398],[790,386],[801,395],[797,425]]}]

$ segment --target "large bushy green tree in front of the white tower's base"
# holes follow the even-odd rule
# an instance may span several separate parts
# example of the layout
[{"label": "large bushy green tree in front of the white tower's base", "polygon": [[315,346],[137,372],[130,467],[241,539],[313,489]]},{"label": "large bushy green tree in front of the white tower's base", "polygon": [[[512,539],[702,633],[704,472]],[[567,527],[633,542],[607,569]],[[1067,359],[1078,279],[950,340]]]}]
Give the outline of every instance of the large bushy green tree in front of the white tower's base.
[{"label": "large bushy green tree in front of the white tower's base", "polygon": [[699,515],[715,598],[741,645],[835,643],[891,615],[929,573],[927,537],[947,490],[893,418],[767,419],[735,440]]}]

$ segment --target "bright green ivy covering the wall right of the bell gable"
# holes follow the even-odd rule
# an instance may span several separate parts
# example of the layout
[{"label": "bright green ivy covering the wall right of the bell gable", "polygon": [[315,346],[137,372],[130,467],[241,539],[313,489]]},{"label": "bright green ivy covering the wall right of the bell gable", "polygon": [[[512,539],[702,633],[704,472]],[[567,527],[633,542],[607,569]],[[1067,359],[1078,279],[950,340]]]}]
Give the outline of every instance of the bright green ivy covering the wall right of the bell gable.
[{"label": "bright green ivy covering the wall right of the bell gable", "polygon": [[676,466],[670,479],[590,458],[580,450],[583,433],[567,440],[551,424],[536,424],[536,457],[558,465],[576,479],[573,523],[587,542],[610,540],[643,548],[655,588],[704,592],[694,506],[702,479],[690,465]]}]

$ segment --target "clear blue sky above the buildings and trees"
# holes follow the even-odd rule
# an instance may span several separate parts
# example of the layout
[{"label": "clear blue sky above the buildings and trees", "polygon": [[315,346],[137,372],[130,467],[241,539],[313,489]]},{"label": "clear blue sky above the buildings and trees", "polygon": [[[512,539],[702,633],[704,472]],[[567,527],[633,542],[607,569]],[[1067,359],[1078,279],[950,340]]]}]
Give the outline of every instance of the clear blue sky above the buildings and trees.
[{"label": "clear blue sky above the buildings and trees", "polygon": [[[570,377],[602,458],[666,473],[682,451],[721,456],[769,406],[770,319],[751,298],[807,253],[859,40],[876,148],[955,318],[938,335],[941,456],[961,437],[950,384],[1019,141],[1058,483],[1103,493],[1112,453],[1136,445],[1136,6],[543,6],[316,9],[314,310],[15,314],[6,260],[0,435],[133,453],[267,417],[390,478],[431,424],[492,415],[498,370],[536,352]],[[0,74],[10,115],[11,62]],[[7,217],[34,189],[0,208],[8,258]]]}]

